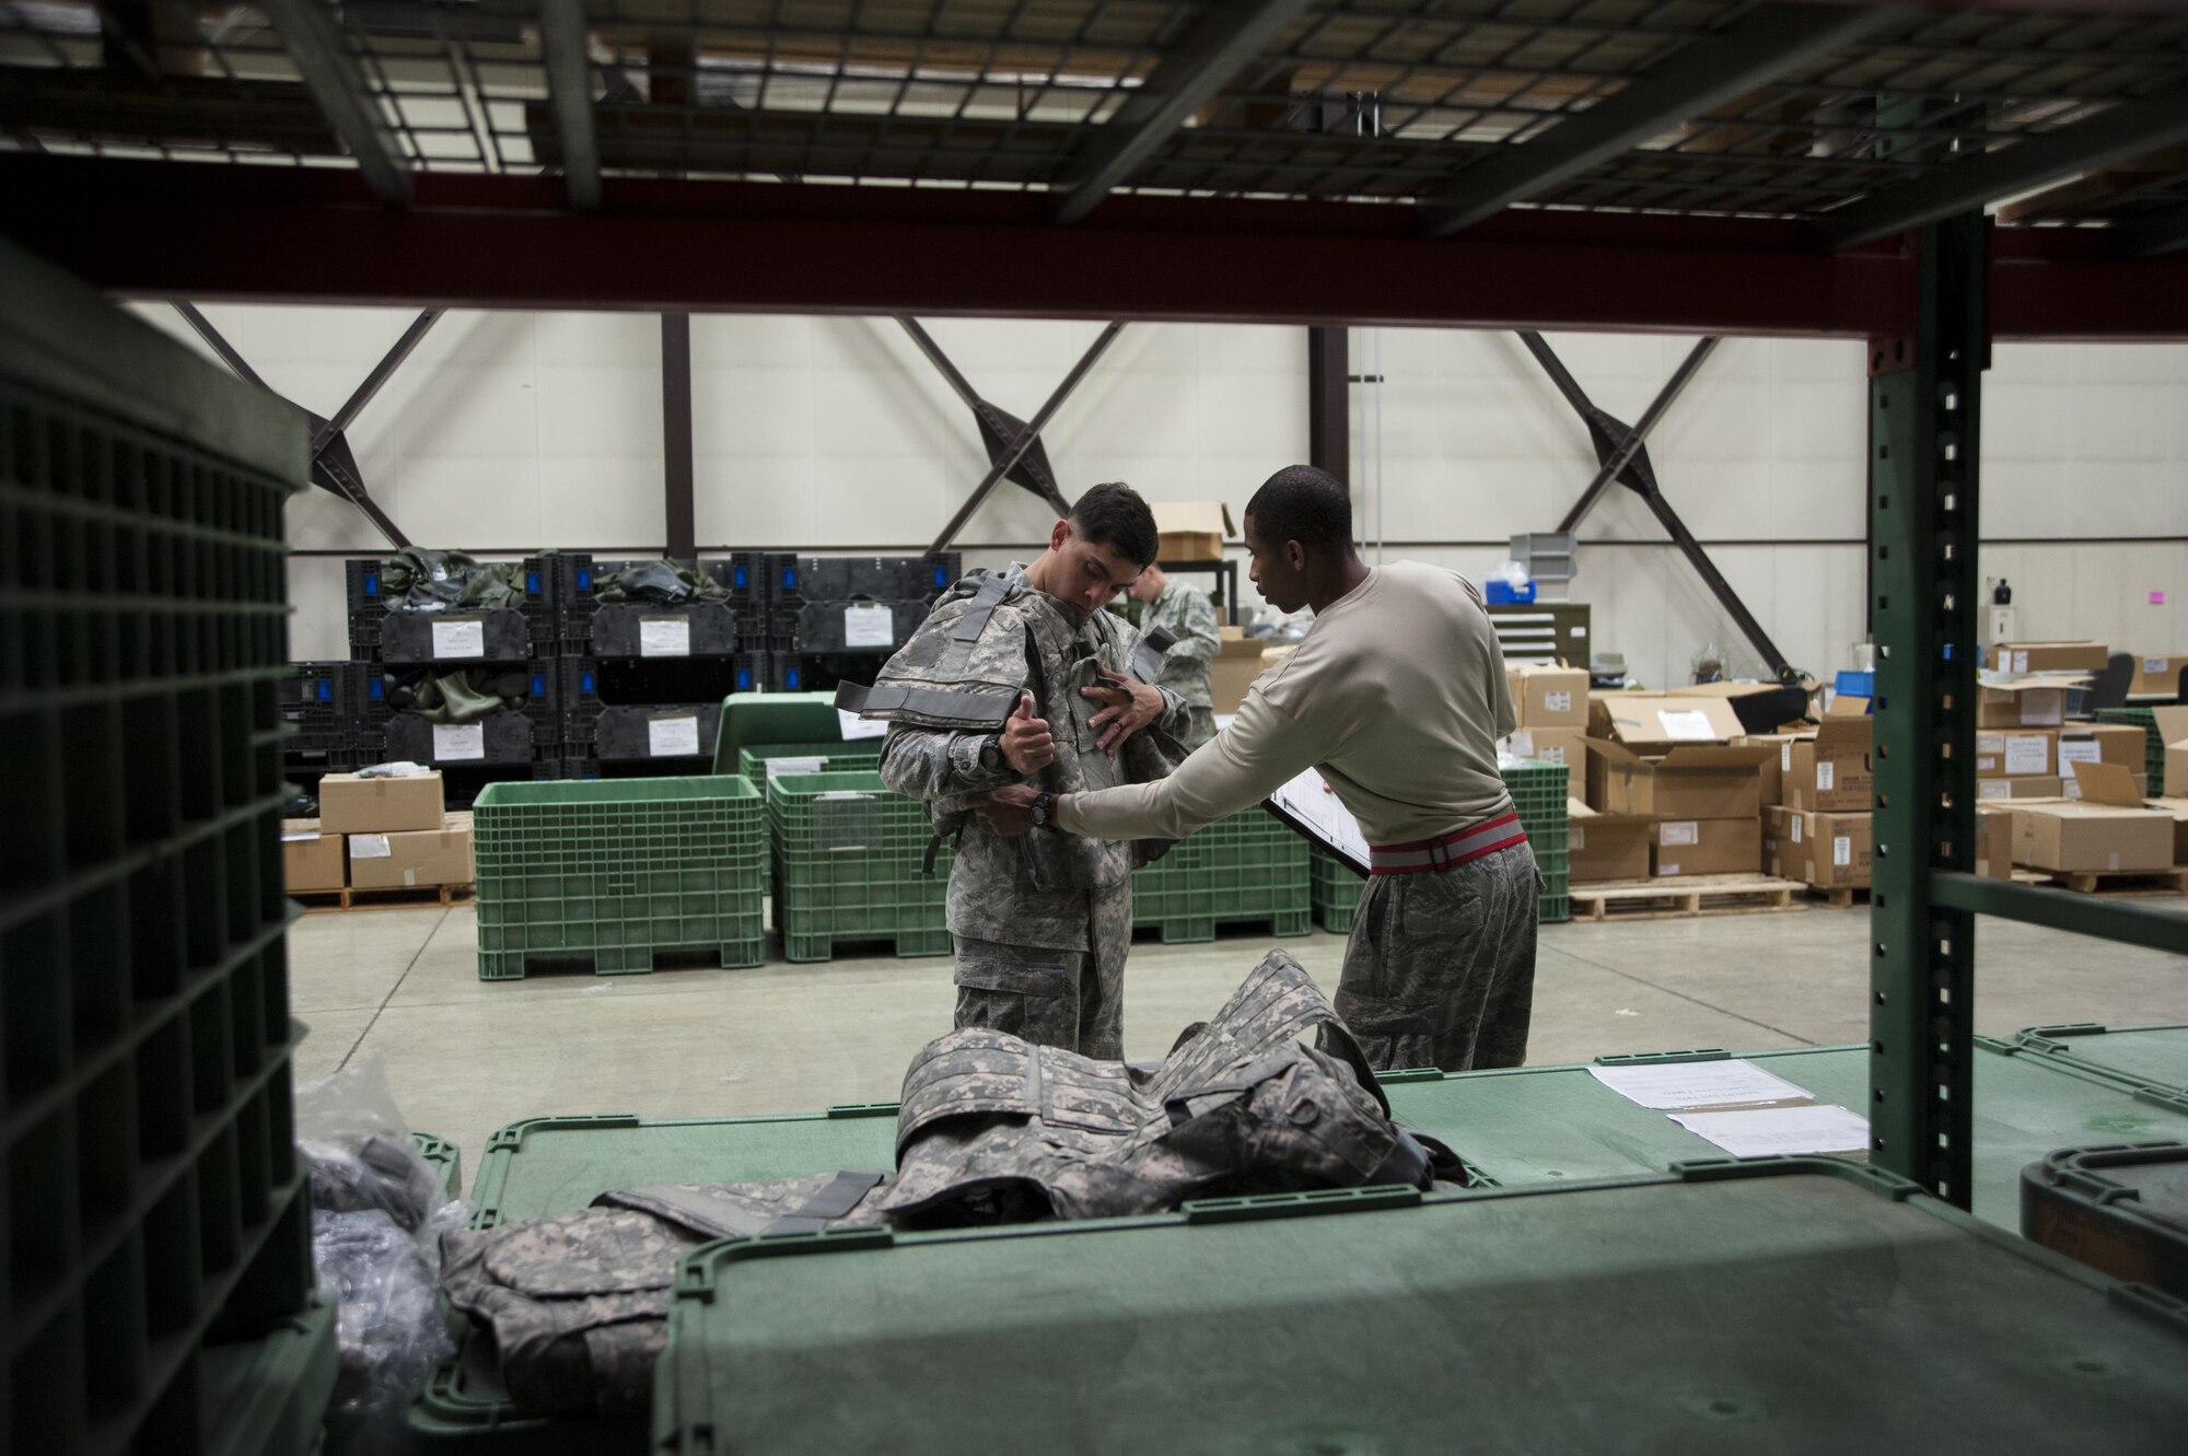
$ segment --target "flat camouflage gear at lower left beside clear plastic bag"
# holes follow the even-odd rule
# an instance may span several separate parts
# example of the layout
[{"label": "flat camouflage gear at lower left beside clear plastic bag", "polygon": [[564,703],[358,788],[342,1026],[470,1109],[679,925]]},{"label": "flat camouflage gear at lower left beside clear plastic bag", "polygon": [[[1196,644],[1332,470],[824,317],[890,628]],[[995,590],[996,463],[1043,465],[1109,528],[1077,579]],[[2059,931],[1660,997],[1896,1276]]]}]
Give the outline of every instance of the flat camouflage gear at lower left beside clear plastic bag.
[{"label": "flat camouflage gear at lower left beside clear plastic bag", "polygon": [[442,1292],[494,1336],[510,1397],[545,1414],[643,1414],[676,1264],[709,1240],[877,1224],[882,1174],[689,1183],[442,1237]]}]

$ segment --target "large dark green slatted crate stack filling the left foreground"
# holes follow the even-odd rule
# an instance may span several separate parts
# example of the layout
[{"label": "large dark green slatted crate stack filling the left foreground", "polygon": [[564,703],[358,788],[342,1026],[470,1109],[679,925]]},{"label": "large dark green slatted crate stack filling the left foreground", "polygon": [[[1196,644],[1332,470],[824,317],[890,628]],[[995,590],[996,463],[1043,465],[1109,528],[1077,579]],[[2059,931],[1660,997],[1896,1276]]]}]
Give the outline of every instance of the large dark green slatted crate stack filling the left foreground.
[{"label": "large dark green slatted crate stack filling the left foreground", "polygon": [[0,243],[0,1449],[228,1452],[232,1369],[333,1384],[280,859],[306,463],[300,411]]}]

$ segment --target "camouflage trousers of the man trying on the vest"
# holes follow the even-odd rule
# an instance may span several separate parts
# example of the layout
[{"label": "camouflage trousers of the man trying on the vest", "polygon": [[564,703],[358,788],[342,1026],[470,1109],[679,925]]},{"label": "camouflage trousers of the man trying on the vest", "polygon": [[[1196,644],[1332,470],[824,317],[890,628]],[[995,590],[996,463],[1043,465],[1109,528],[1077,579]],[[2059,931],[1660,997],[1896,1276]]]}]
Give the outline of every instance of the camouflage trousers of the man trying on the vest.
[{"label": "camouflage trousers of the man trying on the vest", "polygon": [[1087,894],[1087,927],[1085,951],[952,936],[956,1028],[985,1025],[1044,1047],[1122,1060],[1131,881]]}]

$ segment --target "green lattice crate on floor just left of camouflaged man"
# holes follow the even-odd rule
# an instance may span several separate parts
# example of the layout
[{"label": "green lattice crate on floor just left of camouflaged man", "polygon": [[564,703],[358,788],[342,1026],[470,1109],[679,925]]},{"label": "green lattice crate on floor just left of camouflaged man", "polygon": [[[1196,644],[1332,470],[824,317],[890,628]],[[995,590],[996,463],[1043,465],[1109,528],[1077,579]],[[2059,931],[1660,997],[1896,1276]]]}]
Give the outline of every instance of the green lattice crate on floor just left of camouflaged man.
[{"label": "green lattice crate on floor just left of camouflaged man", "polygon": [[947,955],[952,846],[923,870],[926,805],[880,774],[777,774],[768,780],[775,929],[783,958],[831,960],[838,942],[888,940],[897,955]]}]

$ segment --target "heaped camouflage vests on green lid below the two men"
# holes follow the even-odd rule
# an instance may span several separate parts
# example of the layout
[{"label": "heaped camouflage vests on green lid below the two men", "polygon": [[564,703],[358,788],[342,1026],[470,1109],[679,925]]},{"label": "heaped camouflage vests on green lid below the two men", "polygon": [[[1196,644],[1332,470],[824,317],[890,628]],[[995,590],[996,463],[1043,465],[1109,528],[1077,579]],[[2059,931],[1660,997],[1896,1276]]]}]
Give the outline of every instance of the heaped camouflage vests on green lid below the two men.
[{"label": "heaped camouflage vests on green lid below the two men", "polygon": [[904,1078],[897,1176],[873,1202],[939,1226],[1438,1178],[1464,1183],[1464,1165],[1389,1119],[1337,1012],[1300,962],[1269,951],[1155,1069],[985,1028],[928,1043]]}]

